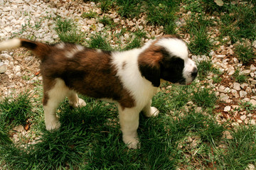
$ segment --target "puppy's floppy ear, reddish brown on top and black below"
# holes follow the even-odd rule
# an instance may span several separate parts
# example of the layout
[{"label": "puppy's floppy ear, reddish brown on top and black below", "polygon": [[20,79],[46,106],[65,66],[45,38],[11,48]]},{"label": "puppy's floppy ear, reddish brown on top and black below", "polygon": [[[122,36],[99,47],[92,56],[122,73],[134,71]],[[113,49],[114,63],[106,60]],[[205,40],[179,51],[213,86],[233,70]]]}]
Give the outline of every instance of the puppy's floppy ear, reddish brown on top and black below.
[{"label": "puppy's floppy ear, reddish brown on top and black below", "polygon": [[149,47],[139,55],[139,71],[142,77],[151,81],[153,86],[160,86],[160,61],[163,58],[161,47]]}]

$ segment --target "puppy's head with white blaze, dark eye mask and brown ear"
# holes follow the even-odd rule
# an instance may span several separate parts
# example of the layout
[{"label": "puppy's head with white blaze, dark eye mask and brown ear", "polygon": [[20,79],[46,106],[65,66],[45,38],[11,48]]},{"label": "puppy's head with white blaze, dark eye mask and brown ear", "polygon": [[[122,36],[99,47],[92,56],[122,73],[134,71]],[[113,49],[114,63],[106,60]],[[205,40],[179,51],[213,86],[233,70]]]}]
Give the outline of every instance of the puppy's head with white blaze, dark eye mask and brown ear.
[{"label": "puppy's head with white blaze, dark eye mask and brown ear", "polygon": [[178,84],[191,84],[198,69],[188,58],[186,42],[173,35],[165,35],[146,45],[139,55],[139,71],[153,86],[160,85],[160,79]]}]

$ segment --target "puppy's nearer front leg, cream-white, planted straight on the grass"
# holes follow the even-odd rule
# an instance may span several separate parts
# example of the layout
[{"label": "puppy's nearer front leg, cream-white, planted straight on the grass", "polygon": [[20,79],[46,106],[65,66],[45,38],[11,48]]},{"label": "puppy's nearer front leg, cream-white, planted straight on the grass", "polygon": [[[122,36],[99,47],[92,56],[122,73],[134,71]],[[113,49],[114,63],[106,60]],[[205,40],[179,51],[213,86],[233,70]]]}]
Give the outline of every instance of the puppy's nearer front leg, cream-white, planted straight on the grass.
[{"label": "puppy's nearer front leg, cream-white, planted straight on the grass", "polygon": [[139,111],[136,108],[122,108],[118,106],[119,123],[122,130],[122,137],[129,149],[139,148],[139,137],[137,129],[139,127]]}]

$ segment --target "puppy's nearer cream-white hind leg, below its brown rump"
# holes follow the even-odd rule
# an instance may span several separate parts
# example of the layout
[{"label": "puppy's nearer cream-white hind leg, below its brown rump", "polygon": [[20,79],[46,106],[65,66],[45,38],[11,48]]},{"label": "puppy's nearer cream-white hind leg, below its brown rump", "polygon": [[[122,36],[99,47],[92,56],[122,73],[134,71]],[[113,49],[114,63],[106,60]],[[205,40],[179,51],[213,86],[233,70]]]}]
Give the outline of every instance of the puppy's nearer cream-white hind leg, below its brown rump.
[{"label": "puppy's nearer cream-white hind leg, below its brown rump", "polygon": [[56,116],[56,108],[70,91],[62,79],[55,79],[50,82],[53,86],[46,89],[44,84],[43,110],[45,114],[46,130],[54,130],[60,128],[60,122]]}]

